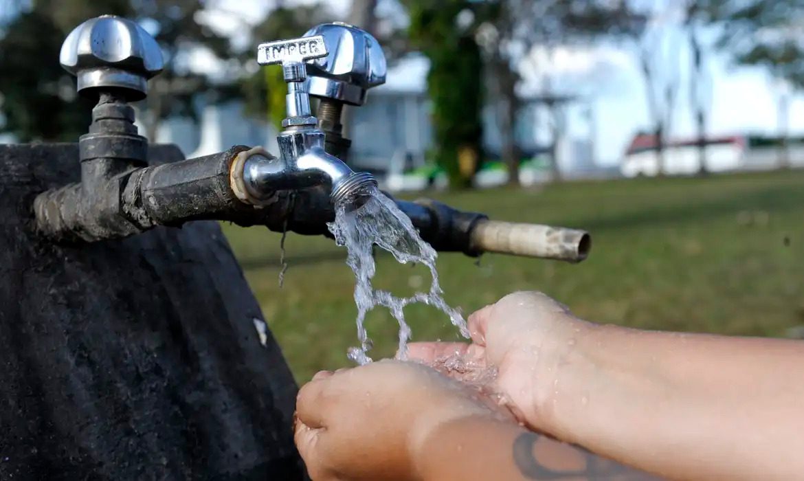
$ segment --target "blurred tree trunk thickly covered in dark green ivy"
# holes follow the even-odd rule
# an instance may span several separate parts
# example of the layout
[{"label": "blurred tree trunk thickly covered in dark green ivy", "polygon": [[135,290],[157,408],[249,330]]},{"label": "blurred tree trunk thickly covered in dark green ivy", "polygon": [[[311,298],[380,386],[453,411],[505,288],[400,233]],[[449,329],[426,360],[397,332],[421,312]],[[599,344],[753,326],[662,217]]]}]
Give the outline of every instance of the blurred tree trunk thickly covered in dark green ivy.
[{"label": "blurred tree trunk thickly covered in dark green ivy", "polygon": [[482,152],[482,59],[474,39],[476,2],[405,0],[413,47],[430,60],[435,161],[452,187],[470,187]]}]

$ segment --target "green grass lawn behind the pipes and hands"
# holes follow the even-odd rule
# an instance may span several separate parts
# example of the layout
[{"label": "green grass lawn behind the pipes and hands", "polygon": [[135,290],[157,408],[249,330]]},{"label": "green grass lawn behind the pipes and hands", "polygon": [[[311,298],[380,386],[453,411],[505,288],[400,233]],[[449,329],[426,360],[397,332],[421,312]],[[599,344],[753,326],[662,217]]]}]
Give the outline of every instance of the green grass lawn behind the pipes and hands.
[{"label": "green grass lawn behind the pipes and hands", "polygon": [[[580,317],[650,329],[784,335],[804,324],[804,171],[707,179],[565,183],[539,189],[435,193],[492,219],[585,228],[589,259],[569,265],[443,253],[445,298],[465,314],[514,290],[542,290]],[[224,226],[265,319],[297,380],[349,364],[355,345],[355,283],[345,250],[324,237],[289,234],[280,289],[280,235]],[[378,256],[375,286],[397,294],[426,289],[421,266]],[[457,339],[427,306],[406,310],[413,339]],[[371,356],[391,356],[396,323],[367,319]]]}]

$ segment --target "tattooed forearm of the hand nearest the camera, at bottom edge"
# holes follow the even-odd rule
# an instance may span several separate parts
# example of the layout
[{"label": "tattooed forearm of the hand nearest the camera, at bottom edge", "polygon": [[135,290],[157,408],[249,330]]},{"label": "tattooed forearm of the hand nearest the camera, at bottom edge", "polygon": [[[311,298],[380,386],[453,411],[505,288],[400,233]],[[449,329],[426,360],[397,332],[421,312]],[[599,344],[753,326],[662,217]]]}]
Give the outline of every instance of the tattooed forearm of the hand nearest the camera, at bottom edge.
[{"label": "tattooed forearm of the hand nearest the camera, at bottom edge", "polygon": [[651,479],[576,446],[486,417],[439,426],[419,452],[424,481]]}]

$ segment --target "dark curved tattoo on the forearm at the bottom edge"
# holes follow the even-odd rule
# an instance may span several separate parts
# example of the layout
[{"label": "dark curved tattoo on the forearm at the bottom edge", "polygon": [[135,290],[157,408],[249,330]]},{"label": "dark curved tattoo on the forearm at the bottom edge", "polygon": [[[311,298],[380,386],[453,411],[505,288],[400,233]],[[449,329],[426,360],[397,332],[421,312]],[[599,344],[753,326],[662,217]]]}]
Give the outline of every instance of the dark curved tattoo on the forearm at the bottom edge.
[{"label": "dark curved tattoo on the forearm at the bottom edge", "polygon": [[619,463],[600,458],[578,446],[574,447],[583,454],[584,466],[576,470],[556,470],[546,467],[534,452],[536,442],[539,442],[540,438],[539,434],[527,432],[519,434],[514,440],[512,446],[514,463],[526,479],[604,479],[605,481],[655,479]]}]

